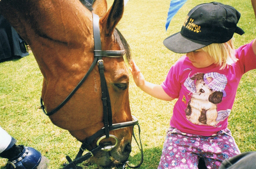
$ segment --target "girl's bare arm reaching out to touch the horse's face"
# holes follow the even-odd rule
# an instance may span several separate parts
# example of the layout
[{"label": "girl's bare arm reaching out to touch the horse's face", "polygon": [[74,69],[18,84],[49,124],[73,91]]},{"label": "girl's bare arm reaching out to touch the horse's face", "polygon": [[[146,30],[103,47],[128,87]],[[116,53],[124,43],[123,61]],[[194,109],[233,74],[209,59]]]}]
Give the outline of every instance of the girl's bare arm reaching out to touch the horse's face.
[{"label": "girl's bare arm reaching out to touch the horse's face", "polygon": [[147,82],[144,79],[141,73],[141,70],[139,70],[139,67],[135,64],[133,60],[131,60],[130,65],[131,65],[130,71],[131,71],[131,74],[133,75],[134,82],[139,88],[141,88],[142,91],[161,100],[166,100],[166,101],[174,100],[173,98],[171,98],[169,95],[166,94],[166,92],[163,90],[163,87],[161,85]]}]

